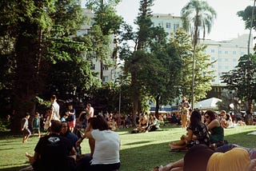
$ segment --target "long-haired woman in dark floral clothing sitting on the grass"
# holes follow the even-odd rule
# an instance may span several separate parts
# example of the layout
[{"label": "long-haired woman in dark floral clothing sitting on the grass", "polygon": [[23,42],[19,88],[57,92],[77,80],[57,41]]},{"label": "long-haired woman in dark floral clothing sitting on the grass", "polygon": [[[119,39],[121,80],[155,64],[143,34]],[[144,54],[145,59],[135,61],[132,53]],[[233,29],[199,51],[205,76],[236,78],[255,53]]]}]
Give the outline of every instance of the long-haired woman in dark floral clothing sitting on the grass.
[{"label": "long-haired woman in dark floral clothing sitting on the grass", "polygon": [[170,142],[170,151],[191,148],[194,145],[205,144],[210,146],[210,138],[206,125],[202,123],[201,113],[194,110],[190,117],[188,133],[182,135],[180,141]]}]

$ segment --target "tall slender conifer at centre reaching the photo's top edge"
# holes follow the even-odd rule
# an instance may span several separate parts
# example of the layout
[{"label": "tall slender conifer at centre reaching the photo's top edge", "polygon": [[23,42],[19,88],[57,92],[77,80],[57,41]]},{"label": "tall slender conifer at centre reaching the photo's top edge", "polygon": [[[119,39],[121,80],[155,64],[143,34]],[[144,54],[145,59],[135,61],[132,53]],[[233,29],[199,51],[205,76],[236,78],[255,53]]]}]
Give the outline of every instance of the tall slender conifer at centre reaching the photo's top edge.
[{"label": "tall slender conifer at centre reaching the photo's top edge", "polygon": [[140,1],[138,17],[134,22],[138,25],[138,31],[134,33],[132,27],[124,24],[123,29],[126,30],[126,34],[122,34],[121,38],[121,40],[134,42],[133,51],[130,50],[129,43],[125,43],[120,53],[121,59],[125,60],[125,70],[130,73],[131,76],[134,121],[136,114],[139,112],[138,108],[140,99],[142,99],[142,93],[140,93],[142,90],[141,82],[138,82],[138,75],[140,74],[138,69],[141,65],[140,61],[142,55],[144,55],[146,51],[150,35],[150,27],[152,26],[152,22],[150,20],[152,13],[150,10],[151,6],[153,6],[153,0]]}]

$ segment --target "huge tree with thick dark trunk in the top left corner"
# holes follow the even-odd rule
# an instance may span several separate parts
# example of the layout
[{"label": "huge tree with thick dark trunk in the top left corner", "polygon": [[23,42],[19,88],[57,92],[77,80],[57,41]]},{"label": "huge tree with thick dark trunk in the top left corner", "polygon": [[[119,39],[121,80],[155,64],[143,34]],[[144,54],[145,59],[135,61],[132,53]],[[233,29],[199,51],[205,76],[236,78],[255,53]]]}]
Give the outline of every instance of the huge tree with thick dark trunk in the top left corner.
[{"label": "huge tree with thick dark trunk in the top left corner", "polygon": [[19,131],[21,117],[34,113],[34,99],[46,88],[51,64],[71,60],[70,54],[59,47],[60,43],[72,42],[70,35],[83,22],[82,8],[78,0],[7,1],[0,6],[0,36],[8,38],[14,62],[10,66],[12,129]]}]

